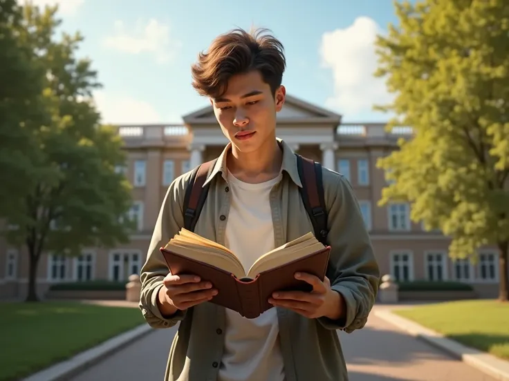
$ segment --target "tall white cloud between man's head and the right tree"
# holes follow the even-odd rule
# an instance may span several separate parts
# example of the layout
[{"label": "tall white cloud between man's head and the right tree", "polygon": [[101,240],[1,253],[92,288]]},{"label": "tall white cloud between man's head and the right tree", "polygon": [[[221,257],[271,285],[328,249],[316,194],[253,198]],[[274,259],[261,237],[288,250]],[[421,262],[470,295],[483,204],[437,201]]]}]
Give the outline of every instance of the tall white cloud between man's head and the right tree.
[{"label": "tall white cloud between man's head and the right tree", "polygon": [[374,104],[391,101],[384,80],[373,77],[377,67],[374,43],[380,33],[373,19],[358,17],[351,26],[322,35],[322,65],[331,68],[334,81],[328,107],[351,115],[371,113]]}]

